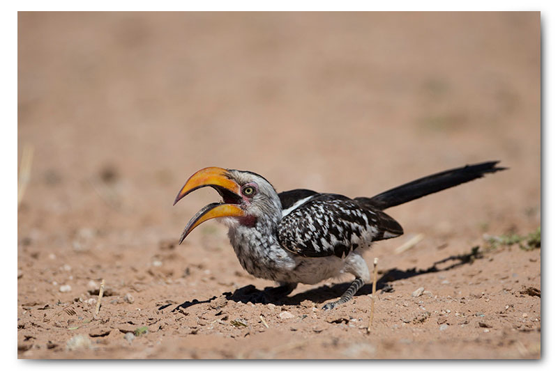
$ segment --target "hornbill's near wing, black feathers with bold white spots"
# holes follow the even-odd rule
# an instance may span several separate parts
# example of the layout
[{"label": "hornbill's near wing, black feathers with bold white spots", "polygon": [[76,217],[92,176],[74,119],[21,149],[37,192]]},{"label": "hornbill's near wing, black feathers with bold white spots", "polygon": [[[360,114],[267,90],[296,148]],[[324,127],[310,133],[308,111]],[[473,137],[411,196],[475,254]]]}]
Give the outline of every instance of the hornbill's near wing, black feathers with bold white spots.
[{"label": "hornbill's near wing, black feathers with bold white spots", "polygon": [[351,198],[315,192],[297,196],[288,202],[285,198],[277,232],[282,247],[297,255],[342,258],[372,241],[403,233],[391,216]]}]

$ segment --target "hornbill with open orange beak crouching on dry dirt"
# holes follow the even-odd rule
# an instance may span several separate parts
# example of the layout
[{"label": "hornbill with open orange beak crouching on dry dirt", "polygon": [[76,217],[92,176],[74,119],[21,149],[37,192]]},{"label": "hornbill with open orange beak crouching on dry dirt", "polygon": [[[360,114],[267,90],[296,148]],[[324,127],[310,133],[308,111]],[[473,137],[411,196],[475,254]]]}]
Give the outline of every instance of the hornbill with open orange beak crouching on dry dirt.
[{"label": "hornbill with open orange beak crouching on dry dirt", "polygon": [[223,200],[199,210],[179,244],[199,224],[217,218],[229,228],[230,243],[243,269],[278,283],[255,298],[264,303],[287,296],[299,283],[312,285],[340,274],[354,275],[341,297],[322,308],[331,310],[370,282],[363,252],[373,242],[403,234],[400,223],[384,210],[506,169],[498,163],[453,168],[376,196],[356,198],[310,189],[278,193],[271,182],[252,171],[202,168],[188,178],[173,205],[202,187],[212,187]]}]

